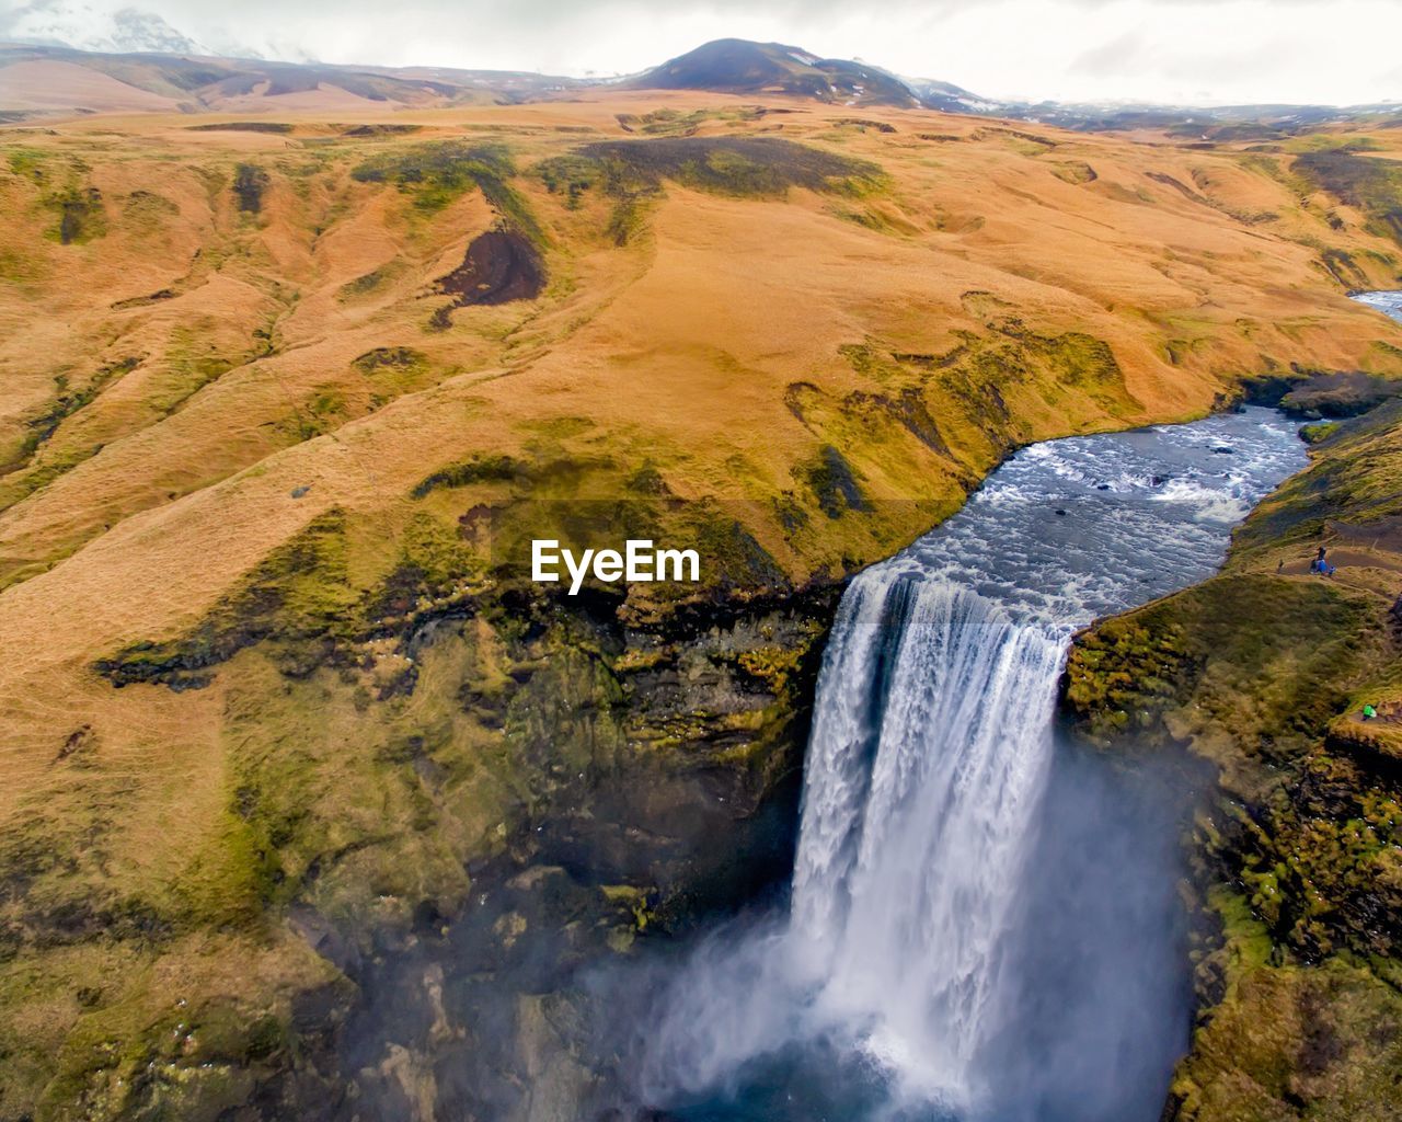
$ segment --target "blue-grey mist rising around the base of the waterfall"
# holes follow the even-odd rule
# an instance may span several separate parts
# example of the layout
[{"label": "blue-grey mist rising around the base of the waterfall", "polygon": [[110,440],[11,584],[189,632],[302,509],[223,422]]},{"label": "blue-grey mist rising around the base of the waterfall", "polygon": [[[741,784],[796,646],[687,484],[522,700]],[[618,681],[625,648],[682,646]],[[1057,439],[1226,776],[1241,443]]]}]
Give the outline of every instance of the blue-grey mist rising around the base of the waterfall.
[{"label": "blue-grey mist rising around the base of the waterfall", "polygon": [[823,1007],[785,893],[592,978],[622,1102],[694,1122],[1155,1122],[1190,1027],[1189,805],[1171,767],[1059,742],[965,1101],[903,1081],[869,1025]]}]

